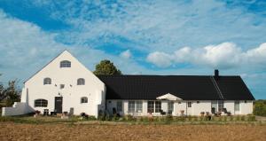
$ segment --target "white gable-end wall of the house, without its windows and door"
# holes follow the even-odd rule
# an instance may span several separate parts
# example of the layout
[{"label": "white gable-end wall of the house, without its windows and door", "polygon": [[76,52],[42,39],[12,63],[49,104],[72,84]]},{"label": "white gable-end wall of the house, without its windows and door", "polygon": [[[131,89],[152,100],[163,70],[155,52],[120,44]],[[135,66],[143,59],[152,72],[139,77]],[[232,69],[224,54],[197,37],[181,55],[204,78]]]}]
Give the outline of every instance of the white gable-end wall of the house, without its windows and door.
[{"label": "white gable-end wall of the house, without its windows and door", "polygon": [[[71,67],[60,67],[62,60],[70,61]],[[51,78],[51,84],[43,85],[43,79],[46,77]],[[77,85],[78,78],[85,79],[85,85]],[[65,84],[65,88],[61,90],[60,84]],[[68,51],[64,51],[25,82],[25,89],[22,94],[24,101],[21,102],[27,102],[27,91],[28,105],[41,112],[43,109],[53,111],[54,98],[60,96],[63,97],[63,112],[69,112],[69,109],[73,107],[74,114],[85,112],[86,114],[97,115],[98,105],[101,105],[102,109],[105,108],[105,84]],[[82,104],[82,97],[87,97],[88,103]],[[48,100],[48,107],[35,107],[34,102],[38,98]]]}]

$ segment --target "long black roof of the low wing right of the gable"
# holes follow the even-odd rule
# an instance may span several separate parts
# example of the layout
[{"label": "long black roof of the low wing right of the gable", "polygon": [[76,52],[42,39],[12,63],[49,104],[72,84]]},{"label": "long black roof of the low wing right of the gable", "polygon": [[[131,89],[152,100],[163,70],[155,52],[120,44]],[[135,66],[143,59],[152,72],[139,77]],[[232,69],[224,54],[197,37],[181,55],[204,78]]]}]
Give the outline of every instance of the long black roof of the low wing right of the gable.
[{"label": "long black roof of the low wing right of the gable", "polygon": [[[254,100],[240,76],[98,75],[106,99],[156,99],[170,93],[184,100]],[[222,95],[222,96],[221,96]]]}]

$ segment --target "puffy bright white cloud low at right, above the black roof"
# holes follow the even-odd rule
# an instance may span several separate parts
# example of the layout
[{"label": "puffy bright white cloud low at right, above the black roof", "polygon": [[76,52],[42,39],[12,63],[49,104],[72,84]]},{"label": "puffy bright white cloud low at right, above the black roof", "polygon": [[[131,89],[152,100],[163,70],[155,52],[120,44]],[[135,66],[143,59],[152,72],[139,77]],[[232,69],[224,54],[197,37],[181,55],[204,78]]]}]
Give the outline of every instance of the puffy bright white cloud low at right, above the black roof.
[{"label": "puffy bright white cloud low at right, above the black roof", "polygon": [[265,67],[266,43],[259,47],[242,51],[235,43],[208,45],[192,49],[184,47],[172,54],[155,51],[147,56],[147,61],[157,67],[169,67],[176,63],[191,63],[211,68]]}]

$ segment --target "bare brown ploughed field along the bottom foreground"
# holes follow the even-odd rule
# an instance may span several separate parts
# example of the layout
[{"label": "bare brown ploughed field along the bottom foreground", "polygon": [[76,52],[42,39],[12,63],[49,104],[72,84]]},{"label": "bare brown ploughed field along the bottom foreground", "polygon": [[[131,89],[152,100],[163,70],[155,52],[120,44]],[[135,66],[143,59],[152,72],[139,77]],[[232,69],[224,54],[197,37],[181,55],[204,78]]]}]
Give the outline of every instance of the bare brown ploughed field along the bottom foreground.
[{"label": "bare brown ploughed field along the bottom foreground", "polygon": [[266,126],[28,124],[0,122],[0,140],[265,140]]}]

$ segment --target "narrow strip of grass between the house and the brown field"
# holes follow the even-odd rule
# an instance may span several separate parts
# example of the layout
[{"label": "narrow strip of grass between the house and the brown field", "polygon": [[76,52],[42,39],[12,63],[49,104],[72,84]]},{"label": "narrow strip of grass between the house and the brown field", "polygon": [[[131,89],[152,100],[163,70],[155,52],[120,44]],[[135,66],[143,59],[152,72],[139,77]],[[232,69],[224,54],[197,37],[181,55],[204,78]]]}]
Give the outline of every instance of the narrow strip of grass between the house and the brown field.
[{"label": "narrow strip of grass between the house and the brown field", "polygon": [[237,124],[237,123],[263,123],[262,121],[256,121],[254,115],[246,116],[213,116],[211,121],[207,121],[206,117],[200,116],[188,116],[188,117],[132,117],[124,116],[121,118],[108,117],[104,120],[96,120],[94,117],[89,119],[81,119],[80,116],[70,116],[68,119],[61,119],[59,116],[42,116],[39,115],[34,117],[33,115],[22,115],[22,116],[4,116],[0,117],[0,122],[11,121],[15,123],[32,123],[32,124],[45,124],[45,123],[126,123],[126,124]]}]

